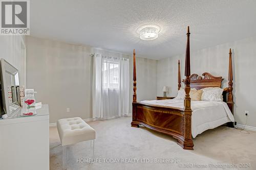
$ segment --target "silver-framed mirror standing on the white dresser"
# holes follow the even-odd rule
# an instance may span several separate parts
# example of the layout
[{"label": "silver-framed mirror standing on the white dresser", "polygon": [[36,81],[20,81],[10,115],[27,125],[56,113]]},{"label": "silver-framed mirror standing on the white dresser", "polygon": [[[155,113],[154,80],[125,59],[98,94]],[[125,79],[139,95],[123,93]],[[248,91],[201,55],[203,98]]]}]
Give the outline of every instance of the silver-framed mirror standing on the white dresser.
[{"label": "silver-framed mirror standing on the white dresser", "polygon": [[19,86],[18,70],[1,59],[1,89],[3,109],[8,116],[20,109],[17,87]]}]

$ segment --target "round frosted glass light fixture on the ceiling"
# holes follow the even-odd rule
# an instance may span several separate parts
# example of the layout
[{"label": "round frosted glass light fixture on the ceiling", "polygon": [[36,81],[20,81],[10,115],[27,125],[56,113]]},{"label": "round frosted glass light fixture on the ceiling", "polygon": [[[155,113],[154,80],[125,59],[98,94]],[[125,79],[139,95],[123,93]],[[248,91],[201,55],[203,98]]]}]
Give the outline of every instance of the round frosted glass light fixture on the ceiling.
[{"label": "round frosted glass light fixture on the ceiling", "polygon": [[137,32],[142,40],[154,40],[158,37],[160,27],[156,25],[144,25],[138,28]]}]

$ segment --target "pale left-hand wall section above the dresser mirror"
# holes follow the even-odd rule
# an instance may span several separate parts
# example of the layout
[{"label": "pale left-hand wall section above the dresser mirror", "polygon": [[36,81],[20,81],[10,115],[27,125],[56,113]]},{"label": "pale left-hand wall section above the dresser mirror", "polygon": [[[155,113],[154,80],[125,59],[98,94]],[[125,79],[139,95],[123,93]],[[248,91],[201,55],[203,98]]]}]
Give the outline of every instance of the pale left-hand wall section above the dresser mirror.
[{"label": "pale left-hand wall section above the dresser mirror", "polygon": [[[5,59],[19,70],[19,80],[24,80],[24,70],[22,70],[22,43],[23,36],[0,36],[0,58]],[[26,67],[25,67],[26,68]],[[20,82],[23,84],[23,82]]]}]

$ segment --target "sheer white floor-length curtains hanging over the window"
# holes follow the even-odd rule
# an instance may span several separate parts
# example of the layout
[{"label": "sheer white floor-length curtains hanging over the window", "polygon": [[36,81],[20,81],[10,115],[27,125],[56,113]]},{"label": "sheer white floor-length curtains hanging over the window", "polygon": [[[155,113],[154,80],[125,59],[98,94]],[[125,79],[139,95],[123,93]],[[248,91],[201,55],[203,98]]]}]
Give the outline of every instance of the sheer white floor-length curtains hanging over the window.
[{"label": "sheer white floor-length curtains hanging over the window", "polygon": [[129,59],[93,57],[93,118],[114,118],[129,113]]}]

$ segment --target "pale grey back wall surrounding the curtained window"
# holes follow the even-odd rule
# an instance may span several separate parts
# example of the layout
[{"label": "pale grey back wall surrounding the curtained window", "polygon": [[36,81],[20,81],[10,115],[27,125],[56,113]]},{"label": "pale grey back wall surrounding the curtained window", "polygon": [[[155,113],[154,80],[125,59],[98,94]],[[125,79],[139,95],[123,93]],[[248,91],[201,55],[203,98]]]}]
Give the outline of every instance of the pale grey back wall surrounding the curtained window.
[{"label": "pale grey back wall surrounding the curtained window", "polygon": [[[132,103],[132,56],[31,36],[26,36],[26,45],[27,88],[37,91],[37,102],[49,104],[50,123],[66,117],[92,117],[92,53],[130,59]],[[137,58],[138,101],[156,98],[156,75],[156,60]]]}]

